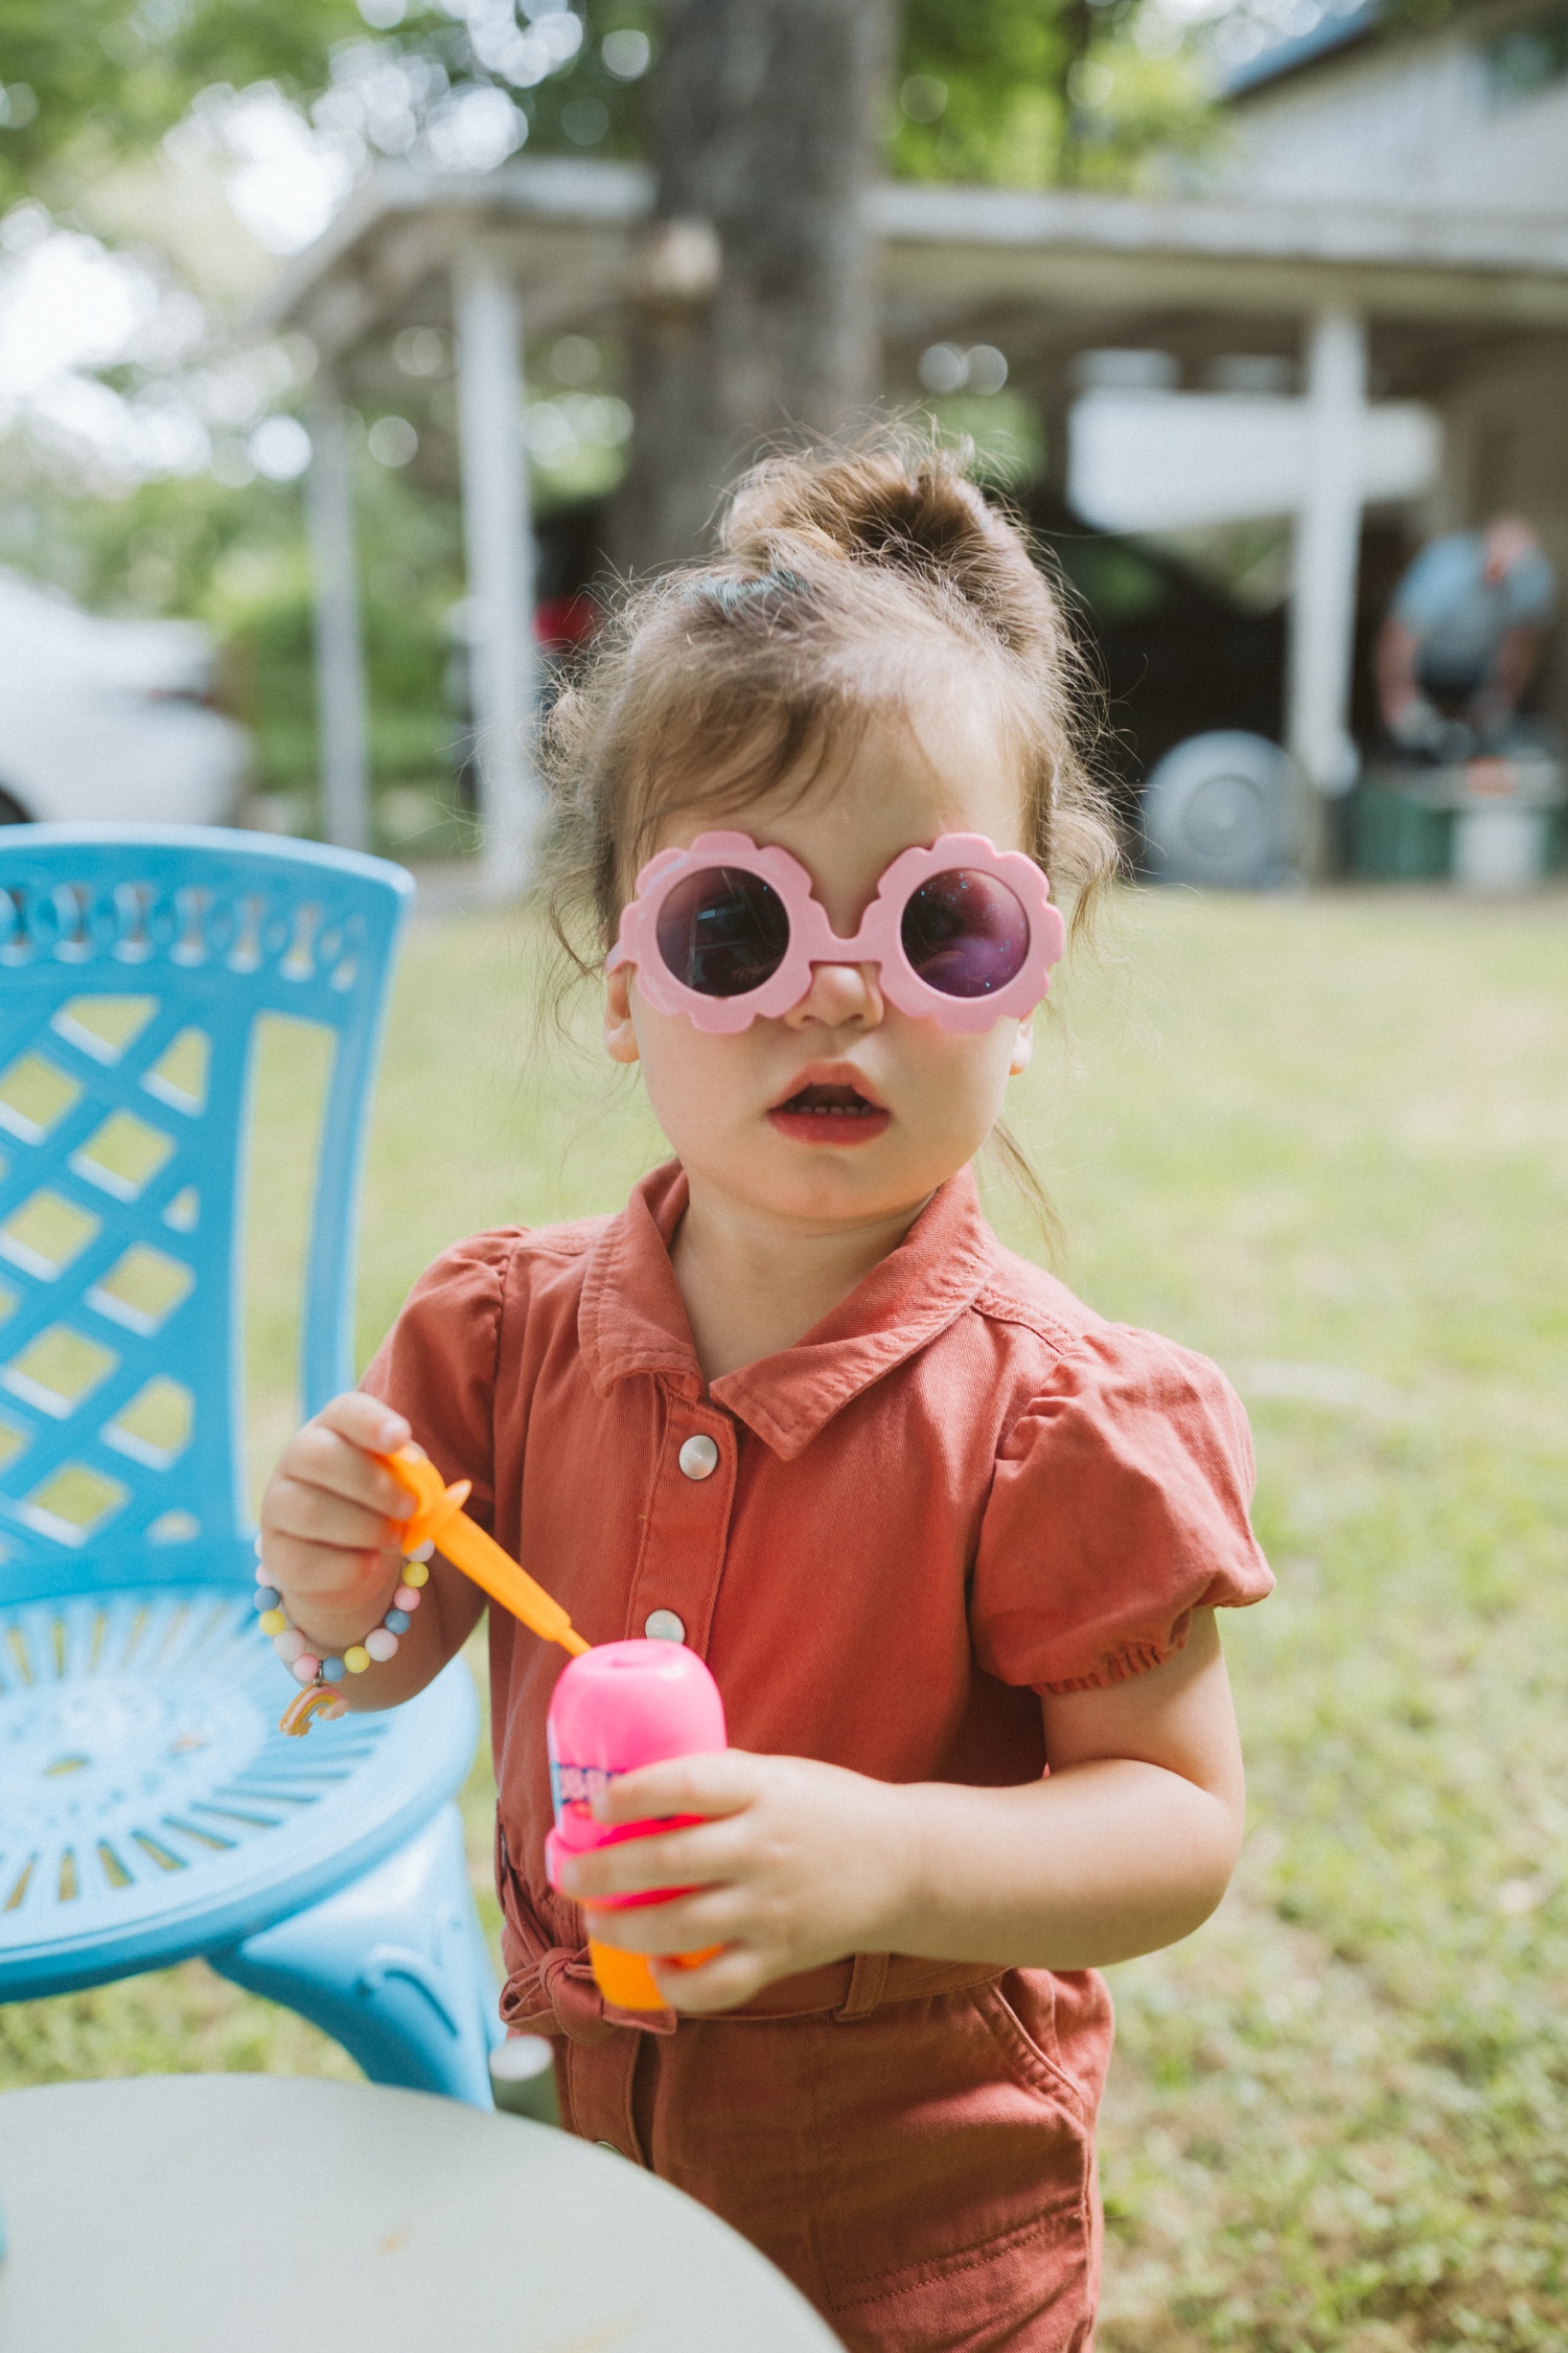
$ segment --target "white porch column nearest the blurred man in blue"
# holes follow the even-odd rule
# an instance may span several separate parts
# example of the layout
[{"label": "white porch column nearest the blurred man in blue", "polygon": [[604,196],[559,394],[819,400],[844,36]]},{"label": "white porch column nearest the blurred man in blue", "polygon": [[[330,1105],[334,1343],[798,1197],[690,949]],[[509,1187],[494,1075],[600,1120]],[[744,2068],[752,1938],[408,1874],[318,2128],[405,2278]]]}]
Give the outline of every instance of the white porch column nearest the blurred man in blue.
[{"label": "white porch column nearest the blurred man in blue", "polygon": [[1361,544],[1366,325],[1319,311],[1307,329],[1307,487],[1295,520],[1286,744],[1319,793],[1356,779],[1349,666]]}]

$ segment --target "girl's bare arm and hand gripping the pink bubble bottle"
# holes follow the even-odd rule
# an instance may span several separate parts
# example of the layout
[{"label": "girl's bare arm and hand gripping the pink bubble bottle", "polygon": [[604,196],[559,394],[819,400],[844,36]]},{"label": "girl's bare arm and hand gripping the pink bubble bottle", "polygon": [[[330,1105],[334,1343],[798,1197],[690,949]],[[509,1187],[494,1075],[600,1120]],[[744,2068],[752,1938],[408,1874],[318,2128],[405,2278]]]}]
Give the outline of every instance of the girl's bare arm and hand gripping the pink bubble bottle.
[{"label": "girl's bare arm and hand gripping the pink bubble bottle", "polygon": [[1154,1953],[1208,1918],[1237,1864],[1241,1744],[1213,1609],[1182,1649],[1121,1682],[1044,1704],[1051,1774],[1016,1788],[870,1781],[809,1758],[670,1758],[611,1781],[599,1821],[701,1814],[574,1857],[562,1889],[595,1934],[654,1958],[672,2009],[733,2009],[776,1977],[849,1953],[1091,1969]]}]

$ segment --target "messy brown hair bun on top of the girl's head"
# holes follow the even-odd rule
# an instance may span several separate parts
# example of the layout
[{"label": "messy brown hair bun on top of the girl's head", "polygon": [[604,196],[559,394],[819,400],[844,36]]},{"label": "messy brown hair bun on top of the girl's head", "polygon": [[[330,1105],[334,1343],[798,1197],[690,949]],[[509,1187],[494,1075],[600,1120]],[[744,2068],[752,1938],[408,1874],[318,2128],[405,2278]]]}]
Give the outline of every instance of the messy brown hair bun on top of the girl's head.
[{"label": "messy brown hair bun on top of the girl's head", "polygon": [[771,574],[816,560],[914,576],[969,605],[1009,652],[1063,652],[1046,579],[1018,527],[966,480],[961,452],[764,459],[729,504],[724,553]]}]

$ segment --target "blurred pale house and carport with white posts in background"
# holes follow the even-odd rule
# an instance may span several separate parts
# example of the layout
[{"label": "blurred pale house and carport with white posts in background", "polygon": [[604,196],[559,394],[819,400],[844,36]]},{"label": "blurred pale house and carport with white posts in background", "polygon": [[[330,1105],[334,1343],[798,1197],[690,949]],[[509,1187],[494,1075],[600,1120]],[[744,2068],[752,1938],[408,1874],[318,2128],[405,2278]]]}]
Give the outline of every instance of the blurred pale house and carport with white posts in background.
[{"label": "blurred pale house and carport with white posts in background", "polygon": [[[1232,136],[1187,195],[898,181],[867,188],[865,207],[893,402],[936,391],[938,360],[983,362],[1044,419],[1046,461],[1086,388],[1143,400],[1145,435],[1171,393],[1192,402],[1180,412],[1190,421],[1201,407],[1222,426],[1246,414],[1258,447],[1276,433],[1288,598],[1284,711],[1267,732],[1331,798],[1354,781],[1354,736],[1368,736],[1354,692],[1368,675],[1366,628],[1420,536],[1514,506],[1568,579],[1556,433],[1568,115],[1559,33],[1530,31],[1502,0],[1495,14],[1474,0],[1443,33],[1382,33],[1354,12],[1324,14],[1321,0],[1288,0],[1288,24],[1281,38],[1232,19],[1229,38],[1251,42],[1229,61]],[[1500,205],[1488,158],[1505,148]],[[661,268],[651,214],[651,174],[623,162],[515,158],[484,174],[381,165],[275,289],[273,325],[308,334],[320,355],[308,487],[336,840],[362,840],[367,821],[346,419],[357,398],[376,398],[404,332],[437,329],[456,344],[487,868],[498,892],[527,873],[538,793],[524,753],[536,692],[524,346],[621,336]],[[703,280],[679,299],[708,294]],[[1128,376],[1128,362],[1143,374]],[[1232,440],[1232,478],[1241,454]],[[1185,466],[1178,454],[1164,473]],[[1072,482],[1041,485],[1063,487]],[[1561,654],[1552,694],[1568,725]],[[1140,711],[1128,720],[1138,732]]]}]

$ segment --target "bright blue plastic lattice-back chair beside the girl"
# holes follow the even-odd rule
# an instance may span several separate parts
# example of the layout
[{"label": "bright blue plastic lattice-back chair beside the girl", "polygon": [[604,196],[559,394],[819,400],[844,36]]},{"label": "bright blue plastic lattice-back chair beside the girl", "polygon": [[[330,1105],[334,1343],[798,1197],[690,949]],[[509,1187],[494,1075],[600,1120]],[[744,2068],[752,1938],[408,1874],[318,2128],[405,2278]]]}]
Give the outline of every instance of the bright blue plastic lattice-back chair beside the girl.
[{"label": "bright blue plastic lattice-back chair beside the girl", "polygon": [[353,1384],[397,866],[0,828],[0,2000],[200,1953],[376,2082],[489,2106],[461,1659],[289,1739],[252,1605],[240,1266],[256,1021],[334,1038],[301,1391]]}]

